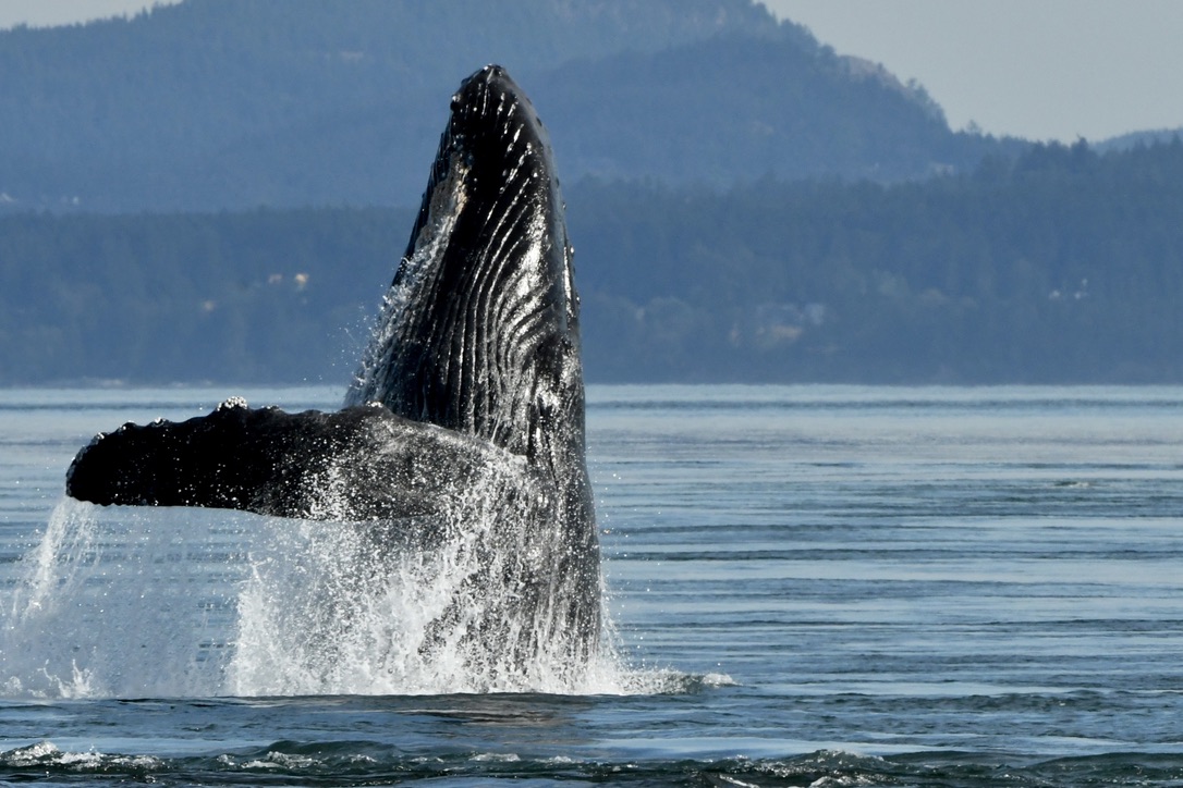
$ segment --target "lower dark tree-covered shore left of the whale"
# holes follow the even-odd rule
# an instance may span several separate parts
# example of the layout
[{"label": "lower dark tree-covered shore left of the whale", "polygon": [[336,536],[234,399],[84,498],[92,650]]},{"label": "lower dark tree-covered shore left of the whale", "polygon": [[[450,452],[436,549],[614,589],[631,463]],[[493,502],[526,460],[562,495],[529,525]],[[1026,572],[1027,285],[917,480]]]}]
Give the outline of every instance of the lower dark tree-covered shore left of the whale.
[{"label": "lower dark tree-covered shore left of the whale", "polygon": [[0,383],[343,380],[411,221],[384,209],[0,220]]}]

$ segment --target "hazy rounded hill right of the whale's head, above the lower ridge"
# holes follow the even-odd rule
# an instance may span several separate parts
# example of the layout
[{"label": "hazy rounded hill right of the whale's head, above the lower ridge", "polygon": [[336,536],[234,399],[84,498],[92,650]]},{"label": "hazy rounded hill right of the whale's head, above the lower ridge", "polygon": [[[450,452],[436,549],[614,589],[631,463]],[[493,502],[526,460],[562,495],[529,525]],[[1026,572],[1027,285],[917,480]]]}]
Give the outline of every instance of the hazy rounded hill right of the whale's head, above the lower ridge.
[{"label": "hazy rounded hill right of the whale's head, above the lower ridge", "polygon": [[897,181],[1020,146],[950,132],[923,89],[791,26],[570,63],[544,74],[534,96],[561,169],[576,177]]}]

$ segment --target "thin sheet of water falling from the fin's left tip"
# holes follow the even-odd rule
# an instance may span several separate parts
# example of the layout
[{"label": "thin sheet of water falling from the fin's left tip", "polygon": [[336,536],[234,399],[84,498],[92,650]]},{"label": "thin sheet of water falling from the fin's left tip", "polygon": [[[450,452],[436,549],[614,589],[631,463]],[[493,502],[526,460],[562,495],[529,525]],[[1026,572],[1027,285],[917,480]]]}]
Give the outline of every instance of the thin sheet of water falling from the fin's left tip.
[{"label": "thin sheet of water falling from the fin's left tip", "polygon": [[241,526],[64,499],[6,605],[5,693],[212,693],[228,657]]}]

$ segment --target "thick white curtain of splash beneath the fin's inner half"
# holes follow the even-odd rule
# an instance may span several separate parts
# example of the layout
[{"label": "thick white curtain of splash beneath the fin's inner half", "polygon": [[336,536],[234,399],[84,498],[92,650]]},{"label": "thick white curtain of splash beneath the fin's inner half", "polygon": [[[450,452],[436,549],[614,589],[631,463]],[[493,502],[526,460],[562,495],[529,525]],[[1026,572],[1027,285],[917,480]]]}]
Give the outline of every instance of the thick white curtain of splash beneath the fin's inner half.
[{"label": "thick white curtain of splash beneath the fin's inner half", "polygon": [[271,521],[269,529],[239,597],[234,695],[589,689],[589,665],[545,647],[518,664],[506,640],[483,637],[513,593],[483,582],[502,577],[483,565],[487,534],[453,533],[392,554],[368,525]]}]

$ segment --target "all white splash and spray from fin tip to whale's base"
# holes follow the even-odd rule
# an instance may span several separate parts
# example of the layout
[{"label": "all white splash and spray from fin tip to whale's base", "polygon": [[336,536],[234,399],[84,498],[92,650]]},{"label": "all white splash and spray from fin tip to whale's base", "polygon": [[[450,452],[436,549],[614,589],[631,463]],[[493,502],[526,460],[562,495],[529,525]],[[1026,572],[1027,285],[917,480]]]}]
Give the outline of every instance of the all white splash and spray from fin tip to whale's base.
[{"label": "all white splash and spray from fin tip to whale's base", "polygon": [[[537,647],[528,660],[483,642],[481,623],[512,611],[516,590],[497,578],[523,546],[505,545],[515,528],[479,509],[467,508],[463,523],[432,523],[439,538],[408,540],[392,533],[407,523],[65,499],[22,559],[24,577],[5,606],[0,692],[686,691],[686,677],[631,670],[610,645],[571,664],[562,649],[548,647],[544,632],[531,639]],[[510,630],[523,626],[548,624],[522,620]],[[610,633],[602,642],[612,644]]]}]

